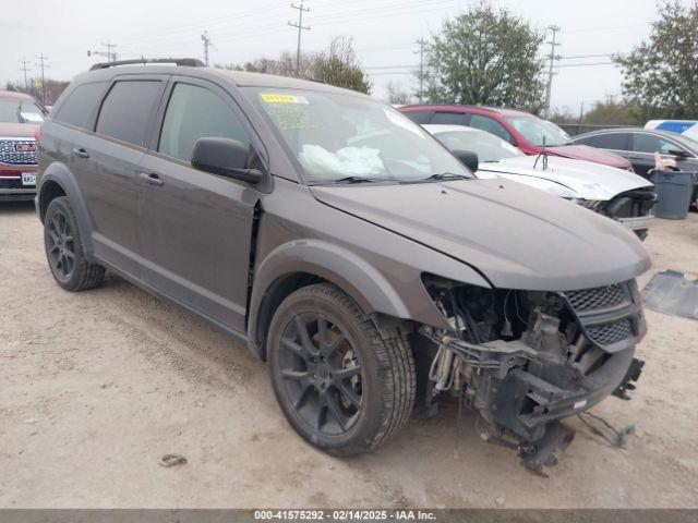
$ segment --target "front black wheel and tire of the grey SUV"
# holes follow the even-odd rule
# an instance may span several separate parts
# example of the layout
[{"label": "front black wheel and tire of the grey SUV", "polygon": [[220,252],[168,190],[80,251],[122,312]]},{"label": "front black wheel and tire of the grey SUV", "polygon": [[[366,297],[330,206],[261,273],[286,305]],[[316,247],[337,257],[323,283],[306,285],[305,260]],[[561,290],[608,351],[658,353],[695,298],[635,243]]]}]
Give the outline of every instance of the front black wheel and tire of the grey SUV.
[{"label": "front black wheel and tire of the grey SUV", "polygon": [[[321,354],[316,365],[300,354],[299,325],[305,326],[305,341]],[[373,450],[410,416],[417,387],[412,351],[397,328],[381,327],[383,337],[353,300],[328,283],[293,292],[272,319],[267,355],[276,399],[296,431],[328,453]],[[321,331],[325,342],[320,342]],[[348,374],[352,377],[345,377]]]}]

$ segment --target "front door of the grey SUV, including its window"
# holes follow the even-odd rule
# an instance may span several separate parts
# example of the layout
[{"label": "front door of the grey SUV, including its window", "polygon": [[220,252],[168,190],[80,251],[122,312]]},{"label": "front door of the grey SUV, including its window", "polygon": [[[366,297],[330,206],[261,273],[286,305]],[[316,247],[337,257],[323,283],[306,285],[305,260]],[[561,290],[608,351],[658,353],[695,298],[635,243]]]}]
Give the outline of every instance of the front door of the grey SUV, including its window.
[{"label": "front door of the grey SUV, including its window", "polygon": [[[190,160],[198,138],[222,136],[250,147],[261,167],[252,129],[234,100],[214,84],[173,77],[158,121],[159,134],[139,179],[143,195],[143,280],[216,323],[244,330],[250,245],[255,204],[252,186],[196,170]],[[257,163],[255,163],[257,162]]]}]

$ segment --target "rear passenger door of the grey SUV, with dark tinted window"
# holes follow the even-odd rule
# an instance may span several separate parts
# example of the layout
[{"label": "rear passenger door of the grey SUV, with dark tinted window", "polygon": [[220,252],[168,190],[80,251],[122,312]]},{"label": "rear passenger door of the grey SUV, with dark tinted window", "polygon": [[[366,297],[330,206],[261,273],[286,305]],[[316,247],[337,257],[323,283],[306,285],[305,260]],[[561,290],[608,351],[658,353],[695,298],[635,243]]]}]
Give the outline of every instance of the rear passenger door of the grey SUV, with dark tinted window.
[{"label": "rear passenger door of the grey SUV, with dark tinted window", "polygon": [[139,277],[139,173],[167,76],[122,76],[104,98],[95,133],[72,156],[94,223],[95,254]]}]

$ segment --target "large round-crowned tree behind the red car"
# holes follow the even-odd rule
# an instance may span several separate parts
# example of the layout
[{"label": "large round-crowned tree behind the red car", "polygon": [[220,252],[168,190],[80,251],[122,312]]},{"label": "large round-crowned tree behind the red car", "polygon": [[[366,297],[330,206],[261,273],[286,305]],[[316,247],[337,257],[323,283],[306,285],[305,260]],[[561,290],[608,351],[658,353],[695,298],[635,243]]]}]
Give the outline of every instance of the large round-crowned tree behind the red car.
[{"label": "large round-crowned tree behind the red car", "polygon": [[[432,104],[544,105],[543,33],[506,9],[478,3],[444,25],[425,46],[425,98]],[[419,77],[419,74],[418,74]]]}]

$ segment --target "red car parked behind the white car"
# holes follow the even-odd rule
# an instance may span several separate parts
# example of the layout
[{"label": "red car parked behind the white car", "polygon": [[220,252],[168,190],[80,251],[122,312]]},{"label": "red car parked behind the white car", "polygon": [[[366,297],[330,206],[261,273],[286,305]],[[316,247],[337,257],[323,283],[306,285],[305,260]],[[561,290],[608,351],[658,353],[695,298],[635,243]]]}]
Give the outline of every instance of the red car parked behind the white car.
[{"label": "red car parked behind the white car", "polygon": [[575,145],[562,129],[533,114],[513,109],[483,106],[404,106],[406,117],[419,124],[466,125],[495,134],[527,155],[541,153],[543,141],[551,156],[593,161],[605,166],[633,170],[622,156],[586,145]]}]

